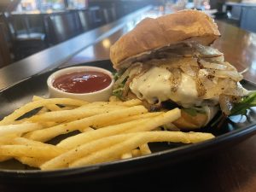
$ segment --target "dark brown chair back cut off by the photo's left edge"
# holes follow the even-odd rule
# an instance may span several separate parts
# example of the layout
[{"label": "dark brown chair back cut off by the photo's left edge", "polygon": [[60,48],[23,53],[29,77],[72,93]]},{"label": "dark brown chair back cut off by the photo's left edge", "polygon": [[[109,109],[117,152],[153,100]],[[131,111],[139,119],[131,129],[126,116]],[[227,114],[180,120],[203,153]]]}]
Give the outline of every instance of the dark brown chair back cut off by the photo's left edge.
[{"label": "dark brown chair back cut off by the photo's left edge", "polygon": [[0,23],[0,67],[7,66],[11,63],[7,37],[8,34],[6,27],[3,23]]}]

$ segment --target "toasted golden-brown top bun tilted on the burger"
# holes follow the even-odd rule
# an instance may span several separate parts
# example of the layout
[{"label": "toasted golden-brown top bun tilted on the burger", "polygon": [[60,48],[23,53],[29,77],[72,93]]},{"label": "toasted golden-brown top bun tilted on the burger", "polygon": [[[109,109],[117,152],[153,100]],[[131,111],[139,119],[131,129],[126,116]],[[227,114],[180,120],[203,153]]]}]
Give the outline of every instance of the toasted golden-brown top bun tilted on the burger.
[{"label": "toasted golden-brown top bun tilted on the burger", "polygon": [[142,20],[131,32],[113,44],[110,59],[117,70],[127,67],[125,60],[152,49],[191,40],[203,45],[212,44],[220,36],[211,17],[198,10],[183,10],[157,19]]}]

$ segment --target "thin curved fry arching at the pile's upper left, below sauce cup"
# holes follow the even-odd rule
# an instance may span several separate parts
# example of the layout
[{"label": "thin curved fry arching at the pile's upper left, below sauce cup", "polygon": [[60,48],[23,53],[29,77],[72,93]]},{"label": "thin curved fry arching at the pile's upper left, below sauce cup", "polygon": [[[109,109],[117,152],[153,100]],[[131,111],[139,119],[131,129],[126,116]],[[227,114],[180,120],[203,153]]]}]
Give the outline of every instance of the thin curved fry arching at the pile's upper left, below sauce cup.
[{"label": "thin curved fry arching at the pile's upper left, below sauce cup", "polygon": [[54,98],[54,99],[44,99],[38,100],[35,102],[29,102],[26,105],[22,106],[19,109],[16,109],[14,113],[9,114],[3,120],[0,121],[0,125],[9,125],[18,119],[23,114],[32,111],[35,108],[45,107],[49,104],[64,104],[64,105],[72,105],[72,106],[82,106],[87,102],[76,100],[76,99],[69,99],[69,98]]}]

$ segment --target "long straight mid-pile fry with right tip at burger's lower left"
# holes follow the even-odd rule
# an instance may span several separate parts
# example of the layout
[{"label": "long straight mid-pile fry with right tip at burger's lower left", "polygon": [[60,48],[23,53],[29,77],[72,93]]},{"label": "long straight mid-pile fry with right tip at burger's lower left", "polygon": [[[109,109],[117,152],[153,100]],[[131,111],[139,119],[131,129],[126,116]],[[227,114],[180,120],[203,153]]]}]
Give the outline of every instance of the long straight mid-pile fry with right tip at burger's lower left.
[{"label": "long straight mid-pile fry with right tip at burger's lower left", "polygon": [[44,130],[32,131],[26,134],[24,137],[40,142],[46,142],[49,141],[49,139],[52,139],[56,136],[65,134],[67,132],[79,130],[82,129],[83,127],[86,128],[88,126],[101,126],[109,120],[124,118],[130,115],[146,112],[147,109],[143,106],[135,106],[131,108],[114,110],[109,113],[100,113],[88,118],[75,120],[67,124],[55,125]]}]

